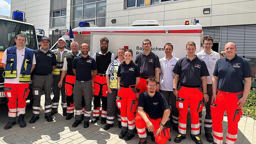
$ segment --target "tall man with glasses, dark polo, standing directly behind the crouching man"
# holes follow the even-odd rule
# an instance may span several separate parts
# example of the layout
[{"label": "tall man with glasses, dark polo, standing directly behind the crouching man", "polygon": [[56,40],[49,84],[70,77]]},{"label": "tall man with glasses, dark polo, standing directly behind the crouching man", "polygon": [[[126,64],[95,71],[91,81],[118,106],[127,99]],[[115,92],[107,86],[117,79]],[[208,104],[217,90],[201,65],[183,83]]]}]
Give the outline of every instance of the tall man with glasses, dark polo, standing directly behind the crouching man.
[{"label": "tall man with glasses, dark polo, standing directly behind the crouching man", "polygon": [[[156,54],[151,52],[151,41],[144,39],[142,42],[143,52],[136,56],[135,64],[137,64],[141,70],[140,82],[136,87],[137,95],[136,101],[139,99],[139,95],[147,90],[146,81],[149,77],[155,77],[157,84],[159,84],[159,58]],[[159,91],[159,85],[156,87],[156,91]]]}]

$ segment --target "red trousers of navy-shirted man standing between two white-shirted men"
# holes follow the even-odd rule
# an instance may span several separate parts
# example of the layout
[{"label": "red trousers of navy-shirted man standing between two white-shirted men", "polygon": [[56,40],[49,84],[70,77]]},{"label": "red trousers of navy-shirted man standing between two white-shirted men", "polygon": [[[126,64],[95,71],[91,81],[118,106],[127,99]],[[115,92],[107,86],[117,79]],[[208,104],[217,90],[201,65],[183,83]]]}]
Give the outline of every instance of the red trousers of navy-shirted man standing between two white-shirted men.
[{"label": "red trousers of navy-shirted man standing between two white-shirted men", "polygon": [[199,88],[188,88],[184,86],[181,87],[178,92],[179,94],[178,100],[176,101],[176,107],[179,110],[179,134],[186,136],[187,114],[189,106],[191,114],[191,135],[199,136],[200,124],[198,113],[202,111],[203,108],[203,93],[199,90]]}]

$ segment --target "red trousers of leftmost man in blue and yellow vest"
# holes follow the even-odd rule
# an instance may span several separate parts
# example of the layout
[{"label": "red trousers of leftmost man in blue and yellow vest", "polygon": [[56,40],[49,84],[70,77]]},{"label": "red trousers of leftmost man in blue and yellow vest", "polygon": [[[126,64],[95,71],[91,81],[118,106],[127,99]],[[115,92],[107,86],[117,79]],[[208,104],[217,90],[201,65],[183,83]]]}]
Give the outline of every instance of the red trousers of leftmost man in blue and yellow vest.
[{"label": "red trousers of leftmost man in blue and yellow vest", "polygon": [[[4,84],[5,95],[9,99],[8,101],[8,116],[16,117],[20,114],[25,114],[26,109],[26,98],[29,93],[29,83],[19,83],[19,84]],[[17,109],[17,99],[18,99],[18,109]]]}]

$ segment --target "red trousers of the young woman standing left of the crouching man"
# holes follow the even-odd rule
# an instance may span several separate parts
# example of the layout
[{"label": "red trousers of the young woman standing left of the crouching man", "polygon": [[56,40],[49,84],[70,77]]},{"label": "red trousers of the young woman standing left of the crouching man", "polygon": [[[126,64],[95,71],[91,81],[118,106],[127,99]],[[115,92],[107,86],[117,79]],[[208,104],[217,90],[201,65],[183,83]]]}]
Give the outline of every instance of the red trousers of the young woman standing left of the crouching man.
[{"label": "red trousers of the young woman standing left of the crouching man", "polygon": [[[121,84],[120,84],[121,85]],[[121,111],[121,125],[122,130],[132,132],[135,129],[135,114],[137,107],[136,101],[136,89],[120,87],[117,93],[118,97],[116,100],[117,107]]]}]

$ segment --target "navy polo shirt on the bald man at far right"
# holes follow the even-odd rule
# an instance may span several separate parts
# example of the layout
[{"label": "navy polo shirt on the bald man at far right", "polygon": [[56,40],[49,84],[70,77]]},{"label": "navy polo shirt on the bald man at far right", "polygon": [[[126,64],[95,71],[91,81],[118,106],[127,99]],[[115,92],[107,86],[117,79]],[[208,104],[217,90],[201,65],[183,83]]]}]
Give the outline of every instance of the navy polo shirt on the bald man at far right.
[{"label": "navy polo shirt on the bald man at far right", "polygon": [[244,90],[243,79],[252,77],[252,72],[249,62],[236,55],[232,60],[218,59],[213,75],[218,77],[218,90],[237,93]]}]

